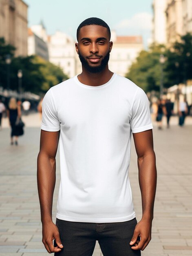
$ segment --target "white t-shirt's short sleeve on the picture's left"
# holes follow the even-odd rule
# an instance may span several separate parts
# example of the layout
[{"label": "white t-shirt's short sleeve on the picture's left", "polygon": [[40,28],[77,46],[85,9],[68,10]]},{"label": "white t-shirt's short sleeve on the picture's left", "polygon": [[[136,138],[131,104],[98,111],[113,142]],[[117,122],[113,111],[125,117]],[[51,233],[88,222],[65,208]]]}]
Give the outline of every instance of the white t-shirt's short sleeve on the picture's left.
[{"label": "white t-shirt's short sleeve on the picture's left", "polygon": [[42,101],[42,124],[41,129],[48,132],[57,132],[60,130],[60,121],[57,117],[55,101],[51,89],[45,94]]}]

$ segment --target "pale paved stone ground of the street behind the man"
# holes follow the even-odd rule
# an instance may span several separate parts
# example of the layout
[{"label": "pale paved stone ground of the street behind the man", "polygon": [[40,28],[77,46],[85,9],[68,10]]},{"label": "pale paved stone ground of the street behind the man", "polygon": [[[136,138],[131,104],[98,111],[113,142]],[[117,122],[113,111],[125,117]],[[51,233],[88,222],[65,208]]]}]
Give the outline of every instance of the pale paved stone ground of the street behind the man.
[{"label": "pale paved stone ground of the street behind the man", "polygon": [[[25,135],[18,146],[11,146],[7,119],[0,131],[0,256],[49,255],[42,244],[42,225],[36,182],[36,159],[39,150],[40,118],[38,114],[23,117]],[[192,255],[192,118],[184,127],[157,130],[154,124],[154,148],[157,157],[158,185],[152,240],[142,256]],[[137,177],[134,145],[130,164],[130,180],[137,220],[141,218],[141,196]],[[60,182],[53,202],[53,220]],[[129,241],[128,241],[129,243]],[[53,255],[53,254],[52,254]],[[85,255],[86,256],[86,255]],[[96,243],[93,256],[102,256]]]}]

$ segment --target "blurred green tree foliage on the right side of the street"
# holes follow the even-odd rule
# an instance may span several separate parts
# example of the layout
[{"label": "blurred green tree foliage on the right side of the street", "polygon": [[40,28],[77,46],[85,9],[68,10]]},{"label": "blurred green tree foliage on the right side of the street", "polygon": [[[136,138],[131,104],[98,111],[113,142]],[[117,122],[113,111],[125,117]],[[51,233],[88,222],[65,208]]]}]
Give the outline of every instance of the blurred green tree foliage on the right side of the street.
[{"label": "blurred green tree foliage on the right side of the street", "polygon": [[[161,54],[166,58],[163,67],[159,62]],[[141,51],[126,77],[146,92],[159,91],[162,68],[164,88],[192,79],[191,34],[181,36],[181,40],[168,49],[164,45],[153,44],[148,51]]]}]

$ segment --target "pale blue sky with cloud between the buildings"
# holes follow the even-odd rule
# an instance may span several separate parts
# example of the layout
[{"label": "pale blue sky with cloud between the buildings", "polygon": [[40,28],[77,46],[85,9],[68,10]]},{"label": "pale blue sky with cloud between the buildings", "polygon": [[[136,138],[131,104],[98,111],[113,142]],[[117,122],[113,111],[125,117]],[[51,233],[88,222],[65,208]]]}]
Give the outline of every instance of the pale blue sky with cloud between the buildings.
[{"label": "pale blue sky with cloud between the buildings", "polygon": [[76,40],[79,24],[90,17],[103,19],[117,36],[151,38],[152,0],[24,0],[29,5],[28,25],[43,20],[49,35],[63,31]]}]

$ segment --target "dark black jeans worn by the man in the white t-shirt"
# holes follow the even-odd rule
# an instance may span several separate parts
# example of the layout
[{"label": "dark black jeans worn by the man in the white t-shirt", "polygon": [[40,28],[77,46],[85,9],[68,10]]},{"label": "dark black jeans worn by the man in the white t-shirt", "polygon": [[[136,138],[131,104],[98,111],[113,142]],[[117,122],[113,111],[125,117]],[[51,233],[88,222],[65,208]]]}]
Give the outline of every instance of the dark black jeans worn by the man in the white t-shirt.
[{"label": "dark black jeans worn by the man in the white t-shirt", "polygon": [[113,223],[71,222],[56,218],[55,224],[63,245],[55,256],[91,256],[96,240],[104,256],[141,255],[140,250],[132,250],[129,244],[137,225],[136,218]]}]

